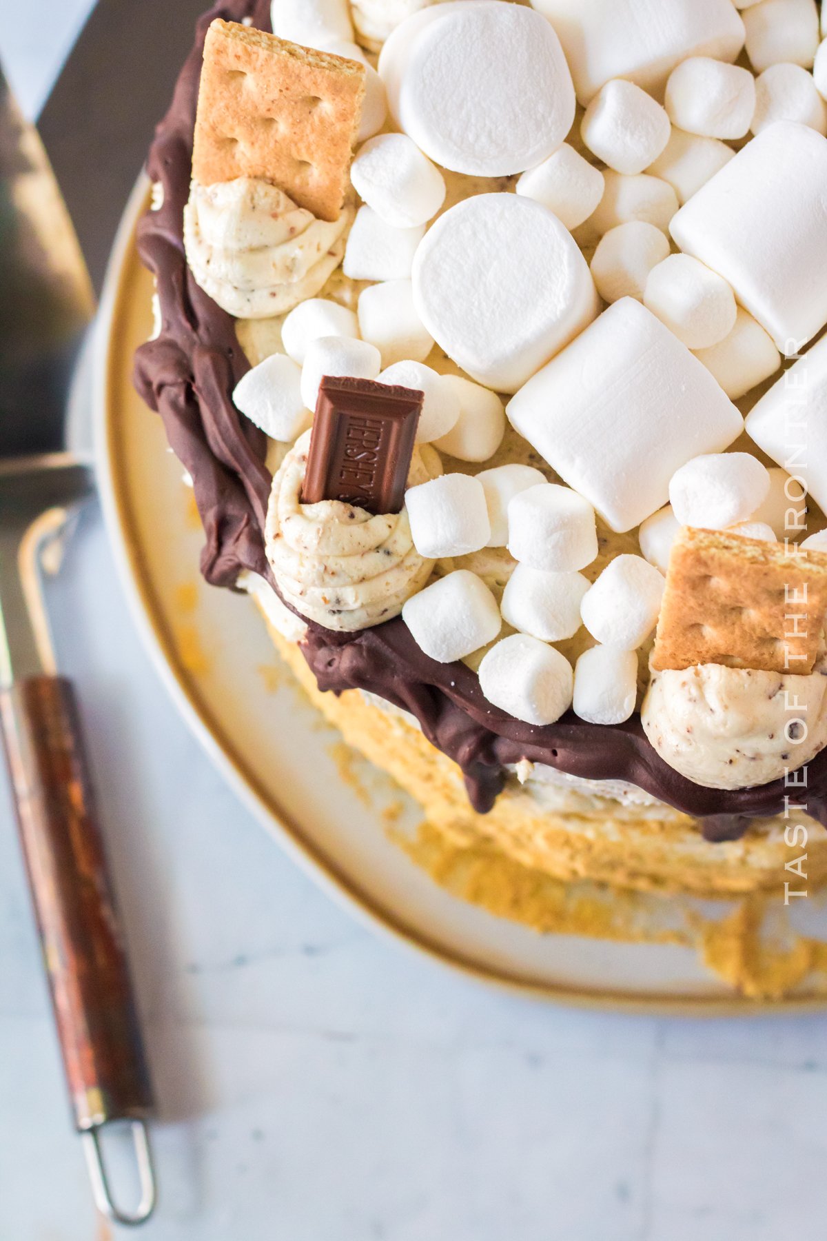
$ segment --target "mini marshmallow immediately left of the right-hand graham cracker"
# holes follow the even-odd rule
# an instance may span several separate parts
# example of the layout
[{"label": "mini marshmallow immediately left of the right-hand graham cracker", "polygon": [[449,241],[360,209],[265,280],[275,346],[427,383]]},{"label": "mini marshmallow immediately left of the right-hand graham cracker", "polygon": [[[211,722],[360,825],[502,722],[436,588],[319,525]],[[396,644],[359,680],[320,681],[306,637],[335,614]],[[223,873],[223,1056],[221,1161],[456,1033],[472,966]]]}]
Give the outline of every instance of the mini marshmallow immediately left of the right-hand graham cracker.
[{"label": "mini marshmallow immediately left of the right-hand graham cracker", "polygon": [[615,556],[583,596],[583,623],[598,642],[636,650],[657,624],[665,585],[641,556]]}]

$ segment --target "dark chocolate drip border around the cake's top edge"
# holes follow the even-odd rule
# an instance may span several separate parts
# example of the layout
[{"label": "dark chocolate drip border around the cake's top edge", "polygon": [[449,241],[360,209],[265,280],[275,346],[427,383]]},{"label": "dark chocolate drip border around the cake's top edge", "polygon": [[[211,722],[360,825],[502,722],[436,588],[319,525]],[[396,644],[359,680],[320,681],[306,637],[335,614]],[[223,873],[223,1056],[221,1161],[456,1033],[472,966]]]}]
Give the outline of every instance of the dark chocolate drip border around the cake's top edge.
[{"label": "dark chocolate drip border around the cake's top edge", "polygon": [[[195,47],[149,153],[148,171],[161,184],[164,202],[144,217],[138,233],[141,259],[157,280],[161,333],[138,350],[135,386],[160,413],[172,449],[192,475],[206,534],[201,570],[208,582],[231,587],[242,570],[275,587],[263,542],[272,478],[264,436],[232,402],[234,385],[249,369],[234,320],[195,283],[182,216],[207,27],[223,17],[269,30],[269,0],[224,0],[198,21]],[[425,737],[461,767],[480,813],[491,809],[502,789],[503,766],[528,758],[588,779],[636,784],[701,819],[710,840],[738,839],[751,818],[782,814],[785,793],[794,803],[806,802],[807,813],[827,825],[827,751],[808,764],[806,788],[786,788],[777,779],[734,792],[710,789],[663,762],[637,715],[614,727],[585,724],[572,711],[547,727],[515,720],[482,696],[476,674],[464,664],[429,659],[399,617],[355,634],[310,624],[301,649],[321,690],[368,690],[410,711]]]}]

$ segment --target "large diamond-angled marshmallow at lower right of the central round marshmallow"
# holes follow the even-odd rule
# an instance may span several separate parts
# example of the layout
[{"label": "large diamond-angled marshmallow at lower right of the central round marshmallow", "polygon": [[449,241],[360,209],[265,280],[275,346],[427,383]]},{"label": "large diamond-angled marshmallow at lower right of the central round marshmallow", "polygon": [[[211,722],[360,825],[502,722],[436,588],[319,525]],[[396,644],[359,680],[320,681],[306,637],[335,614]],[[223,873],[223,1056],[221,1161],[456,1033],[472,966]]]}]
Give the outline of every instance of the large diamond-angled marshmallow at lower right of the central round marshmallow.
[{"label": "large diamond-angled marshmallow at lower right of the central round marshmallow", "polygon": [[604,310],[506,413],[616,531],[666,503],[679,465],[744,429],[709,371],[632,298]]}]

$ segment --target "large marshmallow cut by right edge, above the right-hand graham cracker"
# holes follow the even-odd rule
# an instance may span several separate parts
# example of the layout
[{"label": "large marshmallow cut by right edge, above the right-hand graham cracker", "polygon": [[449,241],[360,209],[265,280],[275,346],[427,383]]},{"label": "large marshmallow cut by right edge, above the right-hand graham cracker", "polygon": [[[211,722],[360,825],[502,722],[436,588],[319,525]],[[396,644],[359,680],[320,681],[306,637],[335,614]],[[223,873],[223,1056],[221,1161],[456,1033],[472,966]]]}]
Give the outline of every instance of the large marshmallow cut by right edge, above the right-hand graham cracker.
[{"label": "large marshmallow cut by right edge, above the right-hand graham cracker", "polygon": [[756,402],[746,433],[827,510],[827,336]]}]

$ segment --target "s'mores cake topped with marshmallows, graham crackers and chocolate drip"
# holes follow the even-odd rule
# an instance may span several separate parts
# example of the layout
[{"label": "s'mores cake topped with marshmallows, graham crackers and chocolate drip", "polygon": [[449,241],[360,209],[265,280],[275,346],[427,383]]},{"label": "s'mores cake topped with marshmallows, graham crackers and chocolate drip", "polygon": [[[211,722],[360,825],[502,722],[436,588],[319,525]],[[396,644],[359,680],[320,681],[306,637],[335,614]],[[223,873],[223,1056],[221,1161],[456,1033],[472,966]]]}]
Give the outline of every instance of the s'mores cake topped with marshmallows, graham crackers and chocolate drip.
[{"label": "s'mores cake topped with marshmallows, graham crackers and chocolate drip", "polygon": [[448,836],[739,894],[795,833],[815,887],[827,53],[656,7],[214,5],[136,382],[207,581]]}]

